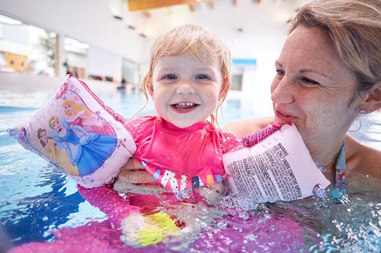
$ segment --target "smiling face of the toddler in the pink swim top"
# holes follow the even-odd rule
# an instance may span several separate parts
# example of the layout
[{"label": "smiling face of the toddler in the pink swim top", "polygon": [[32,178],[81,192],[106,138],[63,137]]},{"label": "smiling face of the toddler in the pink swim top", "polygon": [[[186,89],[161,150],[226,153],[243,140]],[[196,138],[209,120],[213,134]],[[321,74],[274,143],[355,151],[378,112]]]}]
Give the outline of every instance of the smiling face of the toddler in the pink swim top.
[{"label": "smiling face of the toddler in the pink swim top", "polygon": [[178,128],[205,121],[217,108],[222,86],[220,59],[199,61],[192,54],[158,60],[147,89],[157,113]]}]

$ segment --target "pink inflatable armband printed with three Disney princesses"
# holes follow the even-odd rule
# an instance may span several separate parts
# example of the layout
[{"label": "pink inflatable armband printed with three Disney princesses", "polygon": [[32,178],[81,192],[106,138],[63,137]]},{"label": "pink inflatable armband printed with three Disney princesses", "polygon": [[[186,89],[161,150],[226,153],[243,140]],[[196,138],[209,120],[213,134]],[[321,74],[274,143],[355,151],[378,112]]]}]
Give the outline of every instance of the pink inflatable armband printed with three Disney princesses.
[{"label": "pink inflatable armband printed with three Disney princesses", "polygon": [[34,116],[8,133],[84,187],[110,182],[136,151],[124,119],[68,75]]}]

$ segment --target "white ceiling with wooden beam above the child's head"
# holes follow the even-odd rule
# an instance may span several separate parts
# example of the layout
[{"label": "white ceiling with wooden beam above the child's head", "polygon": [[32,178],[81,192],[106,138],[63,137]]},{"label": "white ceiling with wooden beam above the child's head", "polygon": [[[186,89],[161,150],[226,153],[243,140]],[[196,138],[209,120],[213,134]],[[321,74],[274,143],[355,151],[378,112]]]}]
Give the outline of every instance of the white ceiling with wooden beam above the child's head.
[{"label": "white ceiling with wooden beam above the child's head", "polygon": [[147,61],[159,34],[183,23],[216,32],[233,57],[259,58],[279,53],[287,21],[308,1],[0,0],[0,13],[137,62]]}]

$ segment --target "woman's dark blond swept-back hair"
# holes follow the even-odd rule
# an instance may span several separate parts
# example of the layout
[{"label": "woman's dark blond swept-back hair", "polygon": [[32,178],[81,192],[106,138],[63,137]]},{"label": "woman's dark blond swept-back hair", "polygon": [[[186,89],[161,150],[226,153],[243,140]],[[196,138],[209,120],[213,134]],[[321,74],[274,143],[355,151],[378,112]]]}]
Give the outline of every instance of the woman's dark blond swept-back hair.
[{"label": "woman's dark blond swept-back hair", "polygon": [[344,63],[357,76],[357,92],[381,80],[381,0],[317,0],[301,7],[297,26],[325,29]]}]

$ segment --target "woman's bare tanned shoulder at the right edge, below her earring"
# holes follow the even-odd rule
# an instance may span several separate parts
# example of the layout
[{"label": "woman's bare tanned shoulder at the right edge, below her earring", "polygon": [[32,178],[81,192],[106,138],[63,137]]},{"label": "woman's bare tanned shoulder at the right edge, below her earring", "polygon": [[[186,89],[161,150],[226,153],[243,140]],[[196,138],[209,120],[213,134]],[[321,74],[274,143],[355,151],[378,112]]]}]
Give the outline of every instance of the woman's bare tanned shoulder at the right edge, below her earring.
[{"label": "woman's bare tanned shoulder at the right edge, below her earring", "polygon": [[347,169],[381,179],[381,151],[358,142],[350,135],[345,137]]}]

